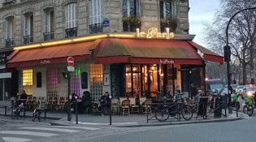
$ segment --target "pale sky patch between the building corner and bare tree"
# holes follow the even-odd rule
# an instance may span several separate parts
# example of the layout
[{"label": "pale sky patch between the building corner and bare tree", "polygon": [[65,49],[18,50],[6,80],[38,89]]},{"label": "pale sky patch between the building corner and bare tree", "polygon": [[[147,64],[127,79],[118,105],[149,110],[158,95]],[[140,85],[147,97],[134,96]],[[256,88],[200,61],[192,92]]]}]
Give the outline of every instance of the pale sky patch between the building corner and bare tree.
[{"label": "pale sky patch between the building corner and bare tree", "polygon": [[219,0],[189,0],[189,34],[195,34],[195,41],[199,45],[206,44],[202,41],[203,22],[212,23]]}]

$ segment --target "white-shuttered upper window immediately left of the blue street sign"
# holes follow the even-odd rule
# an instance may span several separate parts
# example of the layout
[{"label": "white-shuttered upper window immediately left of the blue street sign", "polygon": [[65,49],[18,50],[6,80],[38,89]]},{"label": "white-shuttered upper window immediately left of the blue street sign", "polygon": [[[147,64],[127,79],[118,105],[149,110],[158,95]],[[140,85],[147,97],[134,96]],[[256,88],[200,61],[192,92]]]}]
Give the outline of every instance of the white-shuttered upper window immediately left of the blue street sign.
[{"label": "white-shuttered upper window immediately left of the blue street sign", "polygon": [[102,23],[102,0],[90,1],[90,24]]}]

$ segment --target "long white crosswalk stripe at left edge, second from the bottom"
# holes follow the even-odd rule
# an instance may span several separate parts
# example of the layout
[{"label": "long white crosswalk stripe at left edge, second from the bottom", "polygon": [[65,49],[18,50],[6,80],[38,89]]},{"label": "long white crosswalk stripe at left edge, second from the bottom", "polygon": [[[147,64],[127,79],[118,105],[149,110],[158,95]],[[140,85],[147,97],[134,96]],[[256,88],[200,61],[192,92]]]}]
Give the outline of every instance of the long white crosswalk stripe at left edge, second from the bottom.
[{"label": "long white crosswalk stripe at left edge, second from the bottom", "polygon": [[47,132],[33,132],[33,131],[0,131],[0,134],[11,134],[11,135],[26,135],[26,136],[57,136],[58,134],[47,133]]}]

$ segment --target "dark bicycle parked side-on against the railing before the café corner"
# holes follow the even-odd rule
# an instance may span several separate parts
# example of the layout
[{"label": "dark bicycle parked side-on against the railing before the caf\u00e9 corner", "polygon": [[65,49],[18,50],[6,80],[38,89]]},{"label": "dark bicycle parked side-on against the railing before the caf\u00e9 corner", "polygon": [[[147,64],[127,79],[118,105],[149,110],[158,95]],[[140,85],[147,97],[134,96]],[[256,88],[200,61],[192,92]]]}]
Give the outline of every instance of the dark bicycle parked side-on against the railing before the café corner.
[{"label": "dark bicycle parked side-on against the railing before the caf\u00e9 corner", "polygon": [[170,116],[176,118],[177,114],[181,114],[185,120],[193,117],[191,106],[184,105],[184,103],[159,104],[154,110],[154,117],[159,122],[167,121]]}]

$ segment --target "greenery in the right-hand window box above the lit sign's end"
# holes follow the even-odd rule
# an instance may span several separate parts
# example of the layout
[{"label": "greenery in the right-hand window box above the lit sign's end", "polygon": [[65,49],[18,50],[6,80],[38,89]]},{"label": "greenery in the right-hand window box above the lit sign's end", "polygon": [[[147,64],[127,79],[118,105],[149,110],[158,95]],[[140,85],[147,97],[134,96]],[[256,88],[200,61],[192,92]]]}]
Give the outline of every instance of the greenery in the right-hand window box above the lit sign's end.
[{"label": "greenery in the right-hand window box above the lit sign's end", "polygon": [[170,28],[170,32],[175,32],[177,28],[176,17],[169,16],[160,20],[161,31],[164,32],[165,28]]}]

